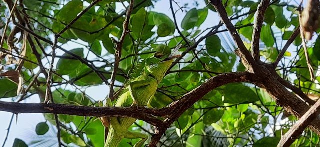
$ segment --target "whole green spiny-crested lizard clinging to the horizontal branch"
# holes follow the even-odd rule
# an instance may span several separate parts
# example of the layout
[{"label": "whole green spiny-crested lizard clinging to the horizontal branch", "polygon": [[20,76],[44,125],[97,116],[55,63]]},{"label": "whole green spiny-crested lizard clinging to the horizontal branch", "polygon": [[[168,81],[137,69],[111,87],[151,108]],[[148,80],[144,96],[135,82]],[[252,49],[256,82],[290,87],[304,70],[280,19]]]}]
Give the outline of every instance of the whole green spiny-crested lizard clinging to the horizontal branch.
[{"label": "whole green spiny-crested lizard clinging to the horizontal branch", "polygon": [[[158,84],[162,81],[173,59],[179,56],[174,54],[180,47],[181,45],[176,47],[168,56],[157,52],[153,58],[146,59],[144,67],[138,73],[139,76],[129,80],[121,90],[121,95],[117,98],[114,106],[150,106]],[[109,98],[107,98],[106,106],[112,106]],[[136,121],[135,118],[101,117],[100,119],[102,124],[109,130],[104,147],[118,147],[122,138],[140,138],[134,147],[141,147],[148,139],[146,134],[128,130]]]}]

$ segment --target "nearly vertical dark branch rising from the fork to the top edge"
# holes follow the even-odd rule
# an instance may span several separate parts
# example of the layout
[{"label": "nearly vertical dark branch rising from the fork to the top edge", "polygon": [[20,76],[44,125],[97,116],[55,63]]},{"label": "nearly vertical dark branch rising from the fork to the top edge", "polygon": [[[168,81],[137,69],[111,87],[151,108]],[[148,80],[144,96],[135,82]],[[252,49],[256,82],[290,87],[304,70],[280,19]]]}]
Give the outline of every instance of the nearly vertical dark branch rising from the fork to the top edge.
[{"label": "nearly vertical dark branch rising from the fork to the top edge", "polygon": [[268,8],[270,0],[262,0],[258,6],[258,9],[255,13],[255,22],[253,26],[253,34],[252,34],[252,56],[255,61],[260,61],[260,49],[259,49],[259,42],[260,42],[260,34],[262,23],[264,20],[264,13],[266,8]]}]

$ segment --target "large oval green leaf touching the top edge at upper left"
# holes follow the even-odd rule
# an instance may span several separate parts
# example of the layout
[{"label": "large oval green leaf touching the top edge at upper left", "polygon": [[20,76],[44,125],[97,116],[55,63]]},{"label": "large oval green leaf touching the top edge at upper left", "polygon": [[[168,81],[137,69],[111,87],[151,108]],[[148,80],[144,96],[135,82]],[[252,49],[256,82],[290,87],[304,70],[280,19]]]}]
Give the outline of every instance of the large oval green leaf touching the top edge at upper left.
[{"label": "large oval green leaf touching the top edge at upper left", "polygon": [[82,9],[83,3],[81,0],[71,0],[61,8],[57,20],[70,22]]}]

